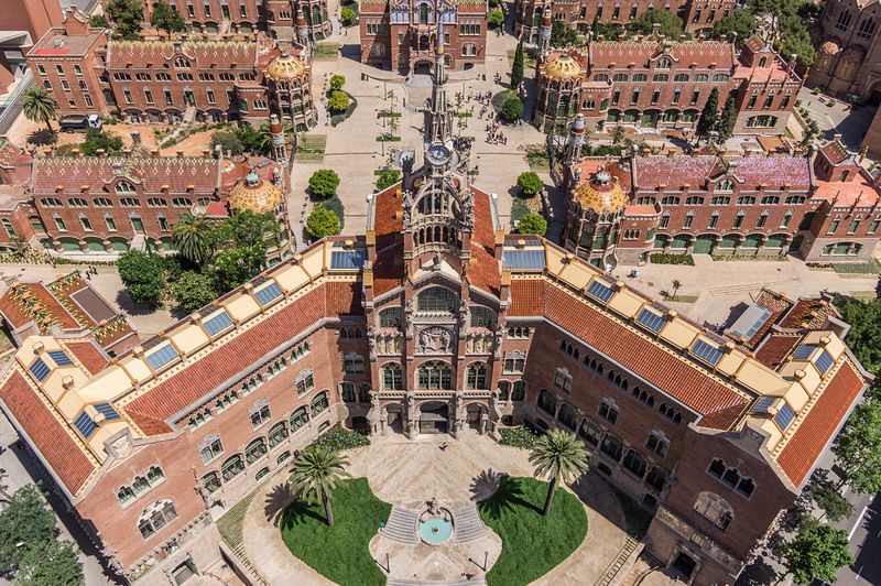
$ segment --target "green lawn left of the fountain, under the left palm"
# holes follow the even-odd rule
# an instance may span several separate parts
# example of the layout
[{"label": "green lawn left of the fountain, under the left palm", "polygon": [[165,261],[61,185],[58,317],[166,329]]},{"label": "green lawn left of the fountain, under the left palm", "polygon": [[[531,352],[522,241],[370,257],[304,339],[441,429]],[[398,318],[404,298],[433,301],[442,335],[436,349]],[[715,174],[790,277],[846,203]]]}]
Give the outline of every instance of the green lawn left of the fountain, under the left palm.
[{"label": "green lawn left of the fountain, under the left palm", "polygon": [[392,506],[379,500],[367,478],[345,480],[334,492],[334,527],[325,523],[320,504],[295,501],[282,518],[282,539],[298,558],[337,584],[385,584],[368,543]]}]

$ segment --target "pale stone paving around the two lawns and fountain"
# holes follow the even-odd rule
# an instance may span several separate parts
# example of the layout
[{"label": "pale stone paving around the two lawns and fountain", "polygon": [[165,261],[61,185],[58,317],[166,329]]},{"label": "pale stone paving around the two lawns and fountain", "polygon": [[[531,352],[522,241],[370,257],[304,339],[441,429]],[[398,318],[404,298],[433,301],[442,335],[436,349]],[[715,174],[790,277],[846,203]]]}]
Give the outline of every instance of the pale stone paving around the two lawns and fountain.
[{"label": "pale stone paving around the two lawns and fountain", "polygon": [[[440,445],[447,443],[446,449]],[[443,507],[458,510],[474,506],[494,491],[501,475],[532,476],[529,453],[501,446],[489,437],[466,433],[460,440],[448,435],[421,436],[410,441],[389,435],[349,455],[349,471],[366,476],[378,498],[394,507],[427,508],[432,498]],[[290,502],[286,478],[276,475],[258,490],[244,517],[244,551],[269,584],[329,584],[294,557],[282,541],[278,527],[280,511]],[[587,513],[587,538],[561,565],[535,584],[594,584],[626,543],[626,520],[621,504],[606,482],[588,474],[574,491]],[[455,519],[454,519],[455,521]],[[501,540],[490,531],[481,540],[440,546],[401,545],[379,535],[371,541],[371,554],[392,577],[416,580],[461,579],[463,573],[482,575],[501,551]],[[474,558],[478,564],[469,562]]]}]

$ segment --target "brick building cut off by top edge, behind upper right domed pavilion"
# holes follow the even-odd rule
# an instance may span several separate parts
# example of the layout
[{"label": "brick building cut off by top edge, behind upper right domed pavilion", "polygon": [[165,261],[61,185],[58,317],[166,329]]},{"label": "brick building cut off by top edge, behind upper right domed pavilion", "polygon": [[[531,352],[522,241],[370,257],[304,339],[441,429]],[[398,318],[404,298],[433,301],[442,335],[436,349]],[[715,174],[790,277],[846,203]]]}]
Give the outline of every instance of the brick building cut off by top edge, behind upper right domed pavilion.
[{"label": "brick building cut off by top edge, behind upper right domed pavilion", "polygon": [[682,19],[686,31],[697,34],[713,31],[716,21],[733,12],[737,2],[733,0],[674,0],[656,4],[652,0],[632,0],[623,3],[603,2],[602,0],[516,0],[514,3],[514,34],[516,36],[524,35],[527,43],[537,45],[542,15],[548,7],[554,20],[561,20],[583,34],[590,31],[595,21],[626,26],[652,8],[674,12]]}]

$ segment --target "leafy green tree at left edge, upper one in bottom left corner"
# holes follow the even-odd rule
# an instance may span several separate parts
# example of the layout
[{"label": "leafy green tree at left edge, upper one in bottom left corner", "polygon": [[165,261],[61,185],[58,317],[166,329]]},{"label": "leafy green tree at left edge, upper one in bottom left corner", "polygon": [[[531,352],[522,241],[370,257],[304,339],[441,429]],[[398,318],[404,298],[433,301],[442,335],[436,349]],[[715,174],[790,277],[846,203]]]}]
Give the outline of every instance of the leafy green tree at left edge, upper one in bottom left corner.
[{"label": "leafy green tree at left edge, upper one in bottom left corner", "polygon": [[55,513],[36,485],[18,489],[0,511],[0,569],[18,566],[28,550],[55,539]]}]

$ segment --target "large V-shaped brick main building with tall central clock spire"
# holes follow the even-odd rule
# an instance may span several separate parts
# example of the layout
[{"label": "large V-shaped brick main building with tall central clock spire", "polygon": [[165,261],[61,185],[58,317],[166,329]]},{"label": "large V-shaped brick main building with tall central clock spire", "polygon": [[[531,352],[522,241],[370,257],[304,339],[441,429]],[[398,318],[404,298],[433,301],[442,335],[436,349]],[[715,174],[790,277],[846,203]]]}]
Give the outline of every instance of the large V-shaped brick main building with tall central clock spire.
[{"label": "large V-shaped brick main building with tall central clock spire", "polygon": [[[322,240],[112,360],[33,336],[0,376],[0,408],[130,580],[180,584],[220,546],[250,576],[213,519],[335,422],[467,438],[530,421],[577,433],[653,513],[663,564],[732,583],[871,380],[834,313],[753,355],[507,236],[435,56],[423,165],[370,197],[363,237]],[[94,167],[108,188],[133,181]]]}]

